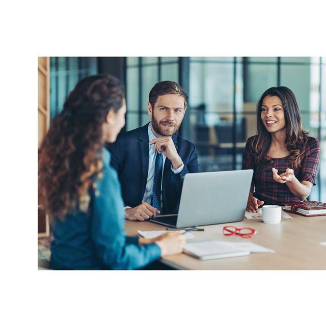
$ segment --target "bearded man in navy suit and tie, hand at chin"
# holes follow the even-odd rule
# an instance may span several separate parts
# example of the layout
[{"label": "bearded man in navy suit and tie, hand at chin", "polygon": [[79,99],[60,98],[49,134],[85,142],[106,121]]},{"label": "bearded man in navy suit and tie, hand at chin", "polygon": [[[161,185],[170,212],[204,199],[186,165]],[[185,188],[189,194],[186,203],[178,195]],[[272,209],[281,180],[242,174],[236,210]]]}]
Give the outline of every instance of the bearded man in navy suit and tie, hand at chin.
[{"label": "bearded man in navy suit and tie, hand at chin", "polygon": [[186,107],[187,95],[179,84],[155,84],[147,105],[151,122],[119,135],[111,145],[126,219],[145,221],[178,212],[184,175],[198,172],[196,146],[176,133]]}]

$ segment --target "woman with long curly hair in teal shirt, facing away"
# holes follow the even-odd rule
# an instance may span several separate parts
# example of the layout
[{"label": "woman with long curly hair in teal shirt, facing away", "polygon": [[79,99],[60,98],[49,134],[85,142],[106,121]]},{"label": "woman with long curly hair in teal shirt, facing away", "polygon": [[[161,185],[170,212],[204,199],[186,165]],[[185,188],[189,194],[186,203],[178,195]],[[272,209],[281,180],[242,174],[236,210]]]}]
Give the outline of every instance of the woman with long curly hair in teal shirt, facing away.
[{"label": "woman with long curly hair in teal shirt, facing away", "polygon": [[128,237],[124,204],[105,142],[125,124],[119,80],[81,80],[49,128],[39,150],[39,199],[49,214],[53,269],[137,269],[182,251],[184,236]]}]

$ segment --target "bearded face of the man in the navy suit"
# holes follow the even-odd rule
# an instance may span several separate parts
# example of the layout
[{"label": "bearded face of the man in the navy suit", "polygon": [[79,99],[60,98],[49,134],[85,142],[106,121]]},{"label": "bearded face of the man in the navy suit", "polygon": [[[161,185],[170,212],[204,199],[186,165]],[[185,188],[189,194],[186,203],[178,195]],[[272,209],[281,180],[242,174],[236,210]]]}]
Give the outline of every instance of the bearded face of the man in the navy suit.
[{"label": "bearded face of the man in the navy suit", "polygon": [[156,136],[172,136],[178,131],[185,114],[184,98],[178,94],[160,95],[154,108],[148,103],[148,114]]}]

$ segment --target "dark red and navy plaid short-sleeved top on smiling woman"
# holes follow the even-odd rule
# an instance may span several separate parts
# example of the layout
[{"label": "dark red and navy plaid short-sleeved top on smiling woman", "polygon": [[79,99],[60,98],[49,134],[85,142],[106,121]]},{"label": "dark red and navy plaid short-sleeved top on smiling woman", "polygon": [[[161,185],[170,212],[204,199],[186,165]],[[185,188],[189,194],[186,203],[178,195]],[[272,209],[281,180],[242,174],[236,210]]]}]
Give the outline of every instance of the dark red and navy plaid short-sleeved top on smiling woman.
[{"label": "dark red and navy plaid short-sleeved top on smiling woman", "polygon": [[[281,158],[273,158],[272,162],[258,162],[258,155],[254,151],[252,144],[255,136],[250,137],[244,148],[242,157],[242,170],[253,169],[253,182],[255,184],[254,196],[264,201],[264,205],[282,205],[284,202],[298,202],[286,183],[279,183],[273,179],[273,171],[271,168],[279,170],[278,174],[282,174],[289,166],[288,156]],[[308,137],[306,154],[301,161],[301,168],[294,171],[295,177],[299,181],[307,180],[316,184],[317,174],[320,163],[320,147],[316,138]]]}]

